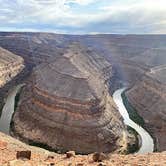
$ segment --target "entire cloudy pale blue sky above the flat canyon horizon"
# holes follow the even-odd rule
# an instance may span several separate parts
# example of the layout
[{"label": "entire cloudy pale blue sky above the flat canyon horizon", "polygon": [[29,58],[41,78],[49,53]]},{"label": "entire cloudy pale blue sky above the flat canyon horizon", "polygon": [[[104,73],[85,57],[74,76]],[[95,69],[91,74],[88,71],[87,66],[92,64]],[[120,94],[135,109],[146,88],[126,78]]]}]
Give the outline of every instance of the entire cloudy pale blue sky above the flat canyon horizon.
[{"label": "entire cloudy pale blue sky above the flat canyon horizon", "polygon": [[0,0],[0,4],[0,31],[166,33],[166,0]]}]

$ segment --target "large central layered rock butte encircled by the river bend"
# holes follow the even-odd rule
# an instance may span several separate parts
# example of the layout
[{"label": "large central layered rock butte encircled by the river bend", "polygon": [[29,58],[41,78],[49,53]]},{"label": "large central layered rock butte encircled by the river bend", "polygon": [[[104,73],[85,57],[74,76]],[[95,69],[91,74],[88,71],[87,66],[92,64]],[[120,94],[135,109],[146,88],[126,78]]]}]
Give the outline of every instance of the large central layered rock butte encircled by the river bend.
[{"label": "large central layered rock butte encircled by the river bend", "polygon": [[41,64],[23,89],[12,131],[61,152],[126,150],[127,132],[108,93],[112,66],[78,44]]}]

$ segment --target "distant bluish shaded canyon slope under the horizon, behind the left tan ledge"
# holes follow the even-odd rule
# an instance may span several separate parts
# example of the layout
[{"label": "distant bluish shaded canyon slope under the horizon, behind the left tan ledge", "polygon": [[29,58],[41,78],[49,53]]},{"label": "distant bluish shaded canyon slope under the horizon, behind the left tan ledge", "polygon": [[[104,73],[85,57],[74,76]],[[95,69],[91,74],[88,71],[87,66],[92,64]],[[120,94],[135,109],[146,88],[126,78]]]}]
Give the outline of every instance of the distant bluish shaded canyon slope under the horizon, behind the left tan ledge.
[{"label": "distant bluish shaded canyon slope under the horizon, behind the left tan ledge", "polygon": [[23,57],[29,68],[61,55],[71,42],[70,36],[51,33],[0,32],[0,46]]}]

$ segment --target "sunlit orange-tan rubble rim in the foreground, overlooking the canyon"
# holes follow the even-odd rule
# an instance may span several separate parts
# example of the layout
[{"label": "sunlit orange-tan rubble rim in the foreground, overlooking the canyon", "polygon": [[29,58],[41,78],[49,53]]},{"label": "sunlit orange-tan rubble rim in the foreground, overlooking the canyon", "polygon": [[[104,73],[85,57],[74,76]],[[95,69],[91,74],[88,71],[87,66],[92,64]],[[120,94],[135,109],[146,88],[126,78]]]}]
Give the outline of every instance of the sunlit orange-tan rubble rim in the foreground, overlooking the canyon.
[{"label": "sunlit orange-tan rubble rim in the foreground, overlooking the canyon", "polygon": [[[18,158],[17,153],[30,151],[30,159]],[[73,154],[73,152],[71,153]],[[146,155],[118,155],[111,154],[102,157],[102,161],[95,162],[94,154],[73,155],[57,154],[40,148],[28,146],[12,137],[0,133],[0,165],[2,166],[164,166],[166,152]]]}]

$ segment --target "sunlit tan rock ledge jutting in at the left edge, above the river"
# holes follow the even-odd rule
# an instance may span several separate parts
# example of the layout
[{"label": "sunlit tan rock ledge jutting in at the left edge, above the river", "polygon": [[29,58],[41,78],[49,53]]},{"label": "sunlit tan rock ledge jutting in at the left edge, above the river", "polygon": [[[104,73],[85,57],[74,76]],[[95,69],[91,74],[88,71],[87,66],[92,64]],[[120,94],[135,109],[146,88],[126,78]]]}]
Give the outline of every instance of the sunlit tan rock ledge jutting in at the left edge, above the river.
[{"label": "sunlit tan rock ledge jutting in at the left edge, above the river", "polygon": [[0,47],[0,87],[20,73],[23,68],[23,58]]}]

